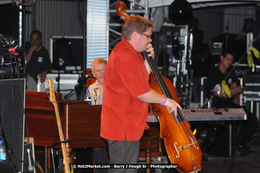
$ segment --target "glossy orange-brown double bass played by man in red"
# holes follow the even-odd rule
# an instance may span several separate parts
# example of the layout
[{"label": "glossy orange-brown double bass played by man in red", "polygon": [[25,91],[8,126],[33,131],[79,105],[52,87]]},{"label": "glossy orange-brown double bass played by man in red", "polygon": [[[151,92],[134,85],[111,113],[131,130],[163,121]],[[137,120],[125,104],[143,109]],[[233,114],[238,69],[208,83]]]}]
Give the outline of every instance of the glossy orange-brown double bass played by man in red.
[{"label": "glossy orange-brown double bass played by man in red", "polygon": [[[116,11],[120,18],[126,22],[130,16],[125,12],[124,2],[116,3]],[[150,87],[156,92],[180,102],[176,89],[172,82],[163,77],[158,70],[152,57],[148,57],[149,52],[143,54],[147,59],[153,77],[150,78]],[[160,137],[164,139],[165,148],[172,164],[177,164],[177,170],[183,173],[198,172],[201,170],[202,152],[197,139],[190,130],[190,123],[183,117],[177,107],[177,116],[168,112],[165,106],[160,104],[149,104],[151,111],[156,113],[160,123]]]}]

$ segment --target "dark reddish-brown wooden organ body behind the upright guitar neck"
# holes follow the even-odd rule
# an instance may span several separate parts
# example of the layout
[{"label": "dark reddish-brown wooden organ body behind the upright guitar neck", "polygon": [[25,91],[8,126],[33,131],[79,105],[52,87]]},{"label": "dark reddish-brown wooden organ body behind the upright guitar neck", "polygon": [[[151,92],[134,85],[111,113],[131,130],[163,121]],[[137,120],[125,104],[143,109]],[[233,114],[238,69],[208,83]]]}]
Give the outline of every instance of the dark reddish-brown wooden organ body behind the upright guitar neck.
[{"label": "dark reddish-brown wooden organ body behind the upright guitar neck", "polygon": [[[26,91],[27,127],[29,137],[34,138],[34,144],[37,146],[50,147],[60,141],[54,106],[49,102],[48,96],[45,92]],[[81,100],[62,100],[59,93],[55,93],[55,97],[64,139],[72,139],[69,143],[70,149],[107,146],[105,140],[100,137],[102,105],[89,105]]]}]

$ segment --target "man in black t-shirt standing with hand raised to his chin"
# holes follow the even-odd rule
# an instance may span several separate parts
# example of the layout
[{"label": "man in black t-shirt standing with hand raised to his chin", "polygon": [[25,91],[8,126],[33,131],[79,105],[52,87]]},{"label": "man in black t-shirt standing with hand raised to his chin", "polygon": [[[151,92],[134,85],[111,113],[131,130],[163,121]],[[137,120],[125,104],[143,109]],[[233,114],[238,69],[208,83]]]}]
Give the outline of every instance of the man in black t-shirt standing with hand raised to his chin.
[{"label": "man in black t-shirt standing with hand raised to his chin", "polygon": [[52,68],[48,51],[42,46],[42,34],[40,31],[32,31],[30,36],[30,46],[26,46],[26,87],[29,91],[37,91],[37,76],[43,83],[46,74]]}]

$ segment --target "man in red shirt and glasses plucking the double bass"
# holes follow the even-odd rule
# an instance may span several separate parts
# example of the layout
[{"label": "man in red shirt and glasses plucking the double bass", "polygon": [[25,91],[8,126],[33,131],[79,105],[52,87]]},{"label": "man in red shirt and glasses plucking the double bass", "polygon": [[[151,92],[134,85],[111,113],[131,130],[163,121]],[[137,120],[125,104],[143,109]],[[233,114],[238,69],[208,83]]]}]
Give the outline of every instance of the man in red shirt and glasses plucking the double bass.
[{"label": "man in red shirt and glasses plucking the double bass", "polygon": [[[146,124],[148,103],[165,105],[177,114],[178,103],[152,90],[150,68],[140,52],[151,51],[154,24],[133,16],[124,24],[121,41],[109,56],[104,73],[100,136],[108,141],[110,163],[138,163],[140,139]],[[123,171],[109,169],[109,172]],[[126,171],[126,170],[125,170]],[[136,172],[129,169],[128,172]]]}]

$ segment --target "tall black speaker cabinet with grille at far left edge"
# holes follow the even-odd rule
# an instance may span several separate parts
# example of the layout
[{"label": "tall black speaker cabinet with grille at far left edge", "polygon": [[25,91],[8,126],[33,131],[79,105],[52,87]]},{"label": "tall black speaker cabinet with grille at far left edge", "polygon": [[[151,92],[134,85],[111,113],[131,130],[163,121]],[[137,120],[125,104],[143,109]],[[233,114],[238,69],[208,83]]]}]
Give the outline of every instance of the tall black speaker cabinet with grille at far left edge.
[{"label": "tall black speaker cabinet with grille at far left edge", "polygon": [[[24,148],[25,78],[23,74],[1,73],[0,71],[0,117],[2,133],[0,140],[11,152],[6,160],[12,161],[18,171],[23,171]],[[0,121],[0,122],[1,122]],[[14,154],[15,153],[15,154]],[[16,156],[17,157],[16,157]]]}]

